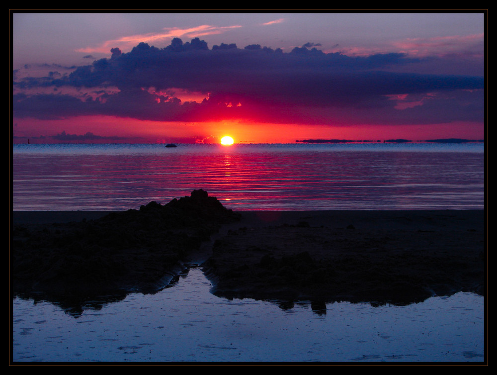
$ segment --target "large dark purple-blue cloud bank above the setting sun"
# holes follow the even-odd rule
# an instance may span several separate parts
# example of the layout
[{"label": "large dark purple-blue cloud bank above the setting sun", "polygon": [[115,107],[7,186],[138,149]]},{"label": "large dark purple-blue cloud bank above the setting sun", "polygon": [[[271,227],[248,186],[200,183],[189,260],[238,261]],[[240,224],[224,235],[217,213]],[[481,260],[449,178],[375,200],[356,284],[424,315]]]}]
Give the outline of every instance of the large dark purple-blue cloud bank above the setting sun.
[{"label": "large dark purple-blue cloud bank above the setting sun", "polygon": [[[112,48],[110,58],[69,75],[52,72],[43,78],[16,80],[14,88],[21,94],[13,97],[14,115],[325,125],[483,121],[483,77],[414,74],[410,67],[423,61],[405,54],[348,57],[313,46],[319,44],[307,43],[290,53],[224,43],[209,49],[198,38],[186,43],[175,38],[165,48],[146,43],[129,53]],[[399,67],[406,73],[398,73]],[[54,88],[54,94],[27,94],[32,92],[28,89],[43,87]],[[68,88],[88,95],[82,100],[60,94]],[[202,93],[208,99],[181,102],[173,94],[160,94],[171,88]],[[396,108],[395,95],[406,94],[403,102],[413,105]]]}]

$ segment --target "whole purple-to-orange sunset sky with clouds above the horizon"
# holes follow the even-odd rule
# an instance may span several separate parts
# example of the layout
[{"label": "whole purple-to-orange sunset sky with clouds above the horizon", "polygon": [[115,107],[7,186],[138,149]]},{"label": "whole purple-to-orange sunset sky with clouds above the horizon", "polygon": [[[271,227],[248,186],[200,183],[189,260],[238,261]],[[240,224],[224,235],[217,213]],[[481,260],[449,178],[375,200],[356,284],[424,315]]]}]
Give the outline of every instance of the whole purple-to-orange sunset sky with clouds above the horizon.
[{"label": "whole purple-to-orange sunset sky with clouds above the horizon", "polygon": [[483,139],[486,13],[11,11],[14,143]]}]

